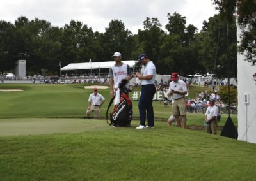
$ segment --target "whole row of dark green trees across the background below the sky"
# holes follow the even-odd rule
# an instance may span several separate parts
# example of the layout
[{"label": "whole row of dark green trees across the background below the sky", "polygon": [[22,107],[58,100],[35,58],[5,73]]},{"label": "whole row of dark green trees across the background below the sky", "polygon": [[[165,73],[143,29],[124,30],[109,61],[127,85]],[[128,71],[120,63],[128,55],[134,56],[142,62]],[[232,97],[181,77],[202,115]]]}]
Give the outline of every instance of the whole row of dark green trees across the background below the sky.
[{"label": "whole row of dark green trees across the background below the sky", "polygon": [[[136,59],[142,52],[156,64],[157,73],[175,71],[182,76],[214,73],[227,77],[227,21],[221,13],[203,22],[200,32],[186,26],[186,17],[168,13],[164,26],[158,18],[146,17],[137,34],[122,20],[111,20],[104,33],[79,21],[55,27],[46,20],[19,17],[14,24],[0,21],[0,73],[14,71],[15,62],[25,59],[27,75],[58,75],[70,63],[111,61],[113,52],[123,60]],[[237,75],[237,39],[234,15],[229,27],[230,75]]]}]

